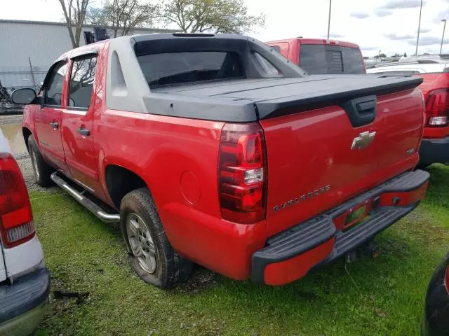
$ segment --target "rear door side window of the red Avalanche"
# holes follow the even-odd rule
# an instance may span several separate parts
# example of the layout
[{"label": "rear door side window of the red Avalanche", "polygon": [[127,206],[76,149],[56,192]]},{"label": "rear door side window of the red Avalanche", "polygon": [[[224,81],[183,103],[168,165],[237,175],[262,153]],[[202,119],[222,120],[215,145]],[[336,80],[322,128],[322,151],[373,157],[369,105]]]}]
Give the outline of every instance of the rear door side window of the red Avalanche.
[{"label": "rear door side window of the red Avalanche", "polygon": [[93,81],[97,57],[87,56],[73,59],[70,74],[68,106],[88,109],[91,104]]}]

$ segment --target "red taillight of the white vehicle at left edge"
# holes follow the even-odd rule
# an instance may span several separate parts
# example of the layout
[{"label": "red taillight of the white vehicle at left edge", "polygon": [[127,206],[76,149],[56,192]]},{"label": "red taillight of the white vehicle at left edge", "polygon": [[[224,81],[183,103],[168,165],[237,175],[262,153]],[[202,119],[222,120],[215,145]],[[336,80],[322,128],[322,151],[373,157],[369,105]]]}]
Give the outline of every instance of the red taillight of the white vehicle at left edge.
[{"label": "red taillight of the white vehicle at left edge", "polygon": [[10,154],[0,154],[0,228],[5,247],[34,237],[34,224],[27,186]]}]

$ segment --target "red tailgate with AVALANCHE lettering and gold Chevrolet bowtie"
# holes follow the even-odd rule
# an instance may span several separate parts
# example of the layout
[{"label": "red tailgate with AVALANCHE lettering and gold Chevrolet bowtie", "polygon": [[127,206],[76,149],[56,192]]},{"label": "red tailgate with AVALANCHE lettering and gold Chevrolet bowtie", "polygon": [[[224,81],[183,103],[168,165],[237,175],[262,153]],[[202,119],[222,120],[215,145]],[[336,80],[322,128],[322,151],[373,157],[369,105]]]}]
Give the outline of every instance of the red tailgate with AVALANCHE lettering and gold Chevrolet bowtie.
[{"label": "red tailgate with AVALANCHE lettering and gold Chevrolet bowtie", "polygon": [[[416,89],[377,97],[373,123],[354,127],[333,105],[261,120],[267,141],[267,223],[271,233],[321,214],[413,169],[424,104]],[[352,148],[363,132],[375,136]]]}]

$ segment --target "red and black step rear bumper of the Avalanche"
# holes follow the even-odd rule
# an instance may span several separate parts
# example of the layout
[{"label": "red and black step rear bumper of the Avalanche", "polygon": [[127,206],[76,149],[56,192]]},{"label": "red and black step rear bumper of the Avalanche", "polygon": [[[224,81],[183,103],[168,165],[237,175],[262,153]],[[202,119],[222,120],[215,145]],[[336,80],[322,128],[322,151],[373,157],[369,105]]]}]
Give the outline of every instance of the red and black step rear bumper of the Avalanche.
[{"label": "red and black step rear bumper of the Avalanche", "polygon": [[[253,253],[251,279],[283,285],[348,253],[415,209],[428,181],[427,172],[408,172],[269,238],[264,248]],[[341,222],[360,204],[370,204],[369,218],[354,228],[342,229]]]}]

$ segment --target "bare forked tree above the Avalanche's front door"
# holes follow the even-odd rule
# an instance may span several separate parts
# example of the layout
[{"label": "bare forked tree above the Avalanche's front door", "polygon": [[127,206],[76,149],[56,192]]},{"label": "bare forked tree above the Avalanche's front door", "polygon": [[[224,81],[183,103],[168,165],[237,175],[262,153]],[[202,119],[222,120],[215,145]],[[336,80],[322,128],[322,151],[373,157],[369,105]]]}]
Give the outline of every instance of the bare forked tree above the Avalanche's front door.
[{"label": "bare forked tree above the Avalanche's front door", "polygon": [[[86,19],[86,12],[89,1],[91,0],[58,0],[64,13],[65,23],[69,31],[70,41],[73,48],[79,47],[79,38],[81,37],[81,29],[84,20]],[[73,28],[75,27],[75,34]]]}]

